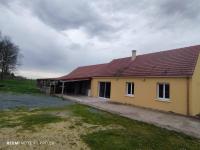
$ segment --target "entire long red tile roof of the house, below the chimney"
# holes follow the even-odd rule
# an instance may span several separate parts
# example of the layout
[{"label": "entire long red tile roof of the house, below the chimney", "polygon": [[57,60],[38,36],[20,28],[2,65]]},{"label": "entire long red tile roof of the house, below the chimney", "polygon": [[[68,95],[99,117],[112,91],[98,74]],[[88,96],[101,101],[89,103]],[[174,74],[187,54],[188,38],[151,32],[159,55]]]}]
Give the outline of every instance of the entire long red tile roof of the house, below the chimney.
[{"label": "entire long red tile roof of the house, below the chimney", "polygon": [[200,53],[200,45],[168,51],[114,59],[110,63],[79,67],[60,80],[92,77],[189,77],[193,75]]}]

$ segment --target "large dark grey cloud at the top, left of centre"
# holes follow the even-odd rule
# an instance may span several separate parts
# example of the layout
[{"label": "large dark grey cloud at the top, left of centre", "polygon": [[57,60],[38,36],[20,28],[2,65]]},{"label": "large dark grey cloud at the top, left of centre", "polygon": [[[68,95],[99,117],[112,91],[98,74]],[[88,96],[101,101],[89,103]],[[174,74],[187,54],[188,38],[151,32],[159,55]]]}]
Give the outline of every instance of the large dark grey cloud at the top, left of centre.
[{"label": "large dark grey cloud at the top, left of centre", "polygon": [[91,35],[112,30],[101,15],[86,0],[34,0],[25,2],[44,23],[57,30],[84,28]]}]

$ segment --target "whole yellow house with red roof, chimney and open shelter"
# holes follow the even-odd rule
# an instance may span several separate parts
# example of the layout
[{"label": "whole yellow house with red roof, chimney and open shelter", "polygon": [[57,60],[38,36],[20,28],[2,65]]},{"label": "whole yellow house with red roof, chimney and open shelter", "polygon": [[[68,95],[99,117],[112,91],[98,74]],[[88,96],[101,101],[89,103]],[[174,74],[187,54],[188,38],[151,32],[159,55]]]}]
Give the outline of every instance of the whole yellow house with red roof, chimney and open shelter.
[{"label": "whole yellow house with red roof, chimney and open shelter", "polygon": [[[40,81],[40,80],[38,80]],[[195,116],[200,114],[200,45],[79,67],[56,78],[55,93]]]}]

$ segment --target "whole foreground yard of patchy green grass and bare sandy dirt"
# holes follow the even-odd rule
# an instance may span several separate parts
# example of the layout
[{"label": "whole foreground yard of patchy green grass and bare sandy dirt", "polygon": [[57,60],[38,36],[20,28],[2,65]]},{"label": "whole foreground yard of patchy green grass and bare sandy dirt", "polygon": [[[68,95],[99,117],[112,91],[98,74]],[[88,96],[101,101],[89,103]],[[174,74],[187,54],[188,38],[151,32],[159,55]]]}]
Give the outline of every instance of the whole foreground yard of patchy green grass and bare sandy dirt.
[{"label": "whole foreground yard of patchy green grass and bare sandy dirt", "polygon": [[0,137],[28,140],[40,136],[54,141],[51,148],[55,149],[199,150],[200,147],[200,140],[184,134],[79,104],[0,112]]}]

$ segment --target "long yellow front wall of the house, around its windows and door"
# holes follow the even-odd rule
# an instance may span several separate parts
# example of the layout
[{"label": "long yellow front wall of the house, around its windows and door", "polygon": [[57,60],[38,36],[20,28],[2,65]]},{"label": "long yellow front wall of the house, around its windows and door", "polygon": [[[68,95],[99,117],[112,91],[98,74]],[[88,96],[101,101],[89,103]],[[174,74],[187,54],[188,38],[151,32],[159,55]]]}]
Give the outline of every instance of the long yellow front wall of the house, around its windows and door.
[{"label": "long yellow front wall of the house, around its windows and door", "polygon": [[[186,78],[93,78],[91,94],[94,97],[98,97],[98,83],[100,81],[111,82],[110,101],[187,114],[188,84]],[[126,82],[134,82],[134,97],[126,96]],[[162,82],[170,84],[169,102],[157,99],[157,83]]]}]

